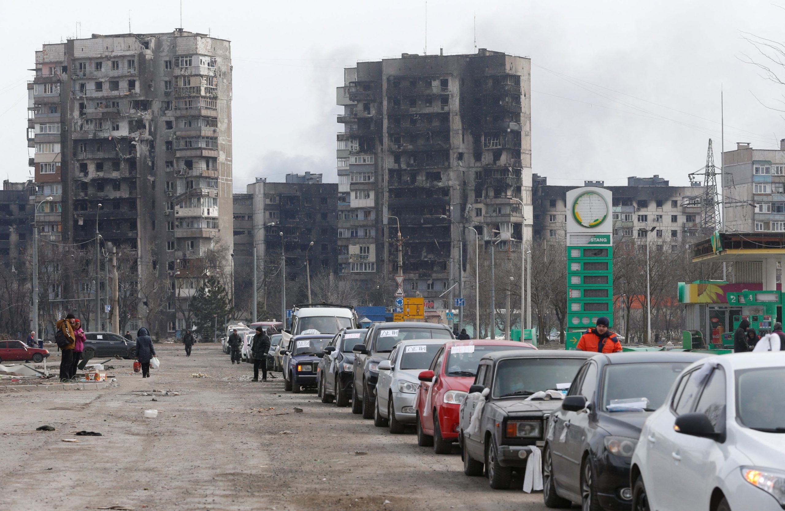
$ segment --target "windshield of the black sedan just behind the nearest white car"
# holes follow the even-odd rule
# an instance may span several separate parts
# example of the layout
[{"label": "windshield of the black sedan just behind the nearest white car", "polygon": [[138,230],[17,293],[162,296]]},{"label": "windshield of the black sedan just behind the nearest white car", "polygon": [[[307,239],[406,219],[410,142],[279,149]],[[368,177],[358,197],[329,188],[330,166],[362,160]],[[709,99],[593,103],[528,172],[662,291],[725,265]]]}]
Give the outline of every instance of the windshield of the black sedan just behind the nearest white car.
[{"label": "windshield of the black sedan just behind the nearest white car", "polygon": [[665,402],[670,385],[686,362],[611,364],[602,384],[604,411],[654,411]]}]

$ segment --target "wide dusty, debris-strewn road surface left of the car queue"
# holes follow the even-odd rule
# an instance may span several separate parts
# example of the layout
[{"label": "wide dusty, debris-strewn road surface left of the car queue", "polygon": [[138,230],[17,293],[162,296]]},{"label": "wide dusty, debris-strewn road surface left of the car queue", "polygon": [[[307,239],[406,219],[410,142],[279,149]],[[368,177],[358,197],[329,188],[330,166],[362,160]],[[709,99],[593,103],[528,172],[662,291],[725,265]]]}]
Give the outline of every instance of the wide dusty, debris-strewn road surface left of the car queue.
[{"label": "wide dusty, debris-strewn road surface left of the car queue", "polygon": [[[391,435],[280,377],[242,381],[253,367],[220,346],[156,350],[149,379],[112,361],[116,388],[0,395],[0,509],[546,509],[520,480],[498,491],[466,477],[457,449],[434,455],[413,430]],[[83,429],[103,436],[71,433]]]}]

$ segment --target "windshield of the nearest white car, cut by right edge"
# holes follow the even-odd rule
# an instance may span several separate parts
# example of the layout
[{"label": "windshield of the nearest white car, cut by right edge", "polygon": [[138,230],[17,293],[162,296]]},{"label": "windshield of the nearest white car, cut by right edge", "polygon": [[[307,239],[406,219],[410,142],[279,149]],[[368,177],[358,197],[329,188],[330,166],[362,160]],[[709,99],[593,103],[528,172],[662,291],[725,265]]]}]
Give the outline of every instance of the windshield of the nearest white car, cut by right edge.
[{"label": "windshield of the nearest white car, cut by right edge", "polygon": [[739,422],[759,431],[785,433],[783,386],[785,368],[736,371],[736,414]]}]

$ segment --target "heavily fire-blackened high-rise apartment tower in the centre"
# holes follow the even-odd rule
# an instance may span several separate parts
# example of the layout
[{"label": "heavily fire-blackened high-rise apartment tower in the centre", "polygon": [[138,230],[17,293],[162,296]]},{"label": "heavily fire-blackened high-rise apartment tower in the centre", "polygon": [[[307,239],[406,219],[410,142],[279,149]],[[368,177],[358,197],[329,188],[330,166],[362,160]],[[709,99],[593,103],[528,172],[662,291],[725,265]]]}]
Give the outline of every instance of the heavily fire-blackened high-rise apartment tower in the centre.
[{"label": "heavily fire-blackened high-rise apartment tower in the centre", "polygon": [[458,296],[461,239],[471,241],[465,270],[475,266],[469,227],[486,250],[494,239],[499,248],[513,240],[513,250],[524,234],[531,239],[530,66],[479,49],[404,53],[345,70],[337,91],[340,274],[360,287],[391,280],[400,222],[403,291],[425,297],[426,310],[444,309]]}]

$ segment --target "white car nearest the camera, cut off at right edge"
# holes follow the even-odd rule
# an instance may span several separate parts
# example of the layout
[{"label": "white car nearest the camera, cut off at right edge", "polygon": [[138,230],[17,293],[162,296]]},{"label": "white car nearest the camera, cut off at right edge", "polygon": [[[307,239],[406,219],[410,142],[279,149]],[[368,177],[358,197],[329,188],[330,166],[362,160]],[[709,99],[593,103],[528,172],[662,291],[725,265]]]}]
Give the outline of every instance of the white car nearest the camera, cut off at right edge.
[{"label": "white car nearest the camera, cut off at right edge", "polygon": [[633,511],[785,509],[785,352],[685,368],[635,448]]}]

